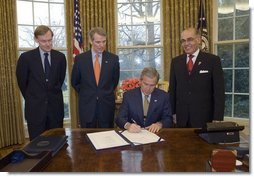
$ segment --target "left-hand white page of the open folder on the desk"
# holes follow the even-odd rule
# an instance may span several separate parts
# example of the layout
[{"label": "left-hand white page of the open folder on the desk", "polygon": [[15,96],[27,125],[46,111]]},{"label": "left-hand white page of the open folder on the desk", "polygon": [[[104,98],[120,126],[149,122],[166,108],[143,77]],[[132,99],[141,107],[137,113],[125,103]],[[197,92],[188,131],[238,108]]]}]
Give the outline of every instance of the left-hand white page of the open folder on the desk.
[{"label": "left-hand white page of the open folder on the desk", "polygon": [[87,133],[96,150],[130,145],[115,130]]}]

